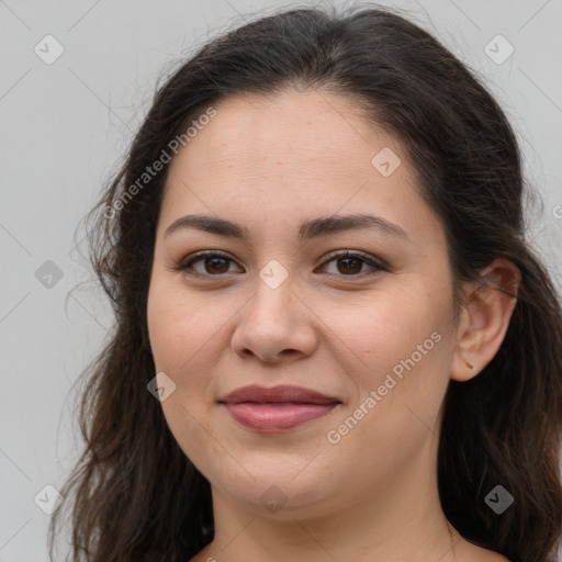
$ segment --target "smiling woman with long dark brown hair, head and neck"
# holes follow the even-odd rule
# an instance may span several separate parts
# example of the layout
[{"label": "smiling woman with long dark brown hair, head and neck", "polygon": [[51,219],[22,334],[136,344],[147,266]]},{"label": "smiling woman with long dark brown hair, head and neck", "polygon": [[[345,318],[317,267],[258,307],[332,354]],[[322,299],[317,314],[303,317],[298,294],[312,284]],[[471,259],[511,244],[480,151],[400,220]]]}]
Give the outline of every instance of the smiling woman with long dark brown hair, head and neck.
[{"label": "smiling woman with long dark brown hair, head and neck", "polygon": [[202,47],[94,210],[72,560],[553,561],[562,315],[522,195],[497,103],[402,16]]}]

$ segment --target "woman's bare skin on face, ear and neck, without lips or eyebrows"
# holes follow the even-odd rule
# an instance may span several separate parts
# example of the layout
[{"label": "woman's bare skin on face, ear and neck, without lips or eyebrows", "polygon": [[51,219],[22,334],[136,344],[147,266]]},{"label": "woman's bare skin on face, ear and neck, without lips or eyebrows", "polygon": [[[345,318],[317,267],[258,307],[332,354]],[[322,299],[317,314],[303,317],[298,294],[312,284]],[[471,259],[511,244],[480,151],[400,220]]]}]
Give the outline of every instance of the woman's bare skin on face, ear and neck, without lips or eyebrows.
[{"label": "woman's bare skin on face, ear and neck, without lips or eyebrows", "polygon": [[[453,323],[441,223],[417,193],[398,140],[368,125],[352,100],[286,90],[214,108],[170,165],[147,311],[157,371],[176,384],[164,414],[213,492],[215,538],[192,562],[505,561],[445,518],[437,447],[449,380],[469,380],[492,360],[515,299],[465,283],[470,304]],[[384,147],[402,161],[389,177],[371,164]],[[297,238],[306,220],[356,213],[400,225],[408,240],[372,228]],[[250,238],[194,228],[165,237],[187,214],[227,218]],[[173,269],[200,250],[232,261],[193,263],[202,278]],[[389,270],[326,260],[344,250]],[[272,259],[289,274],[277,289],[259,277]],[[496,260],[486,272],[516,290],[510,262]],[[440,341],[329,442],[327,432],[432,333]],[[247,384],[295,384],[341,404],[289,432],[259,434],[216,402]],[[260,499],[272,485],[286,499],[276,513]]]}]

